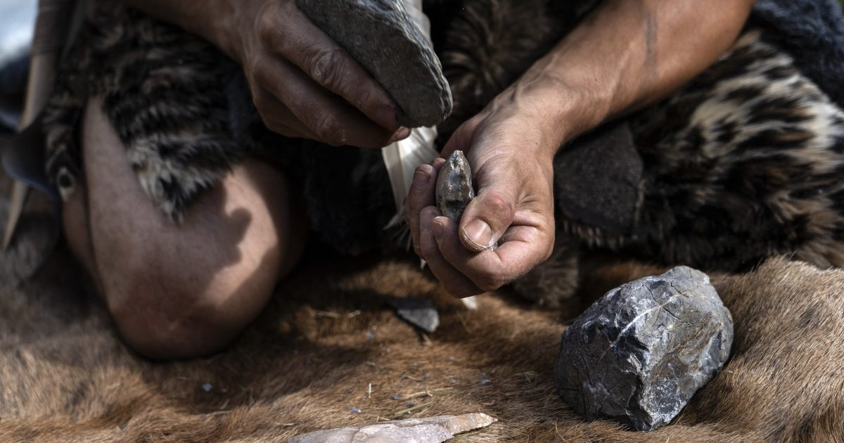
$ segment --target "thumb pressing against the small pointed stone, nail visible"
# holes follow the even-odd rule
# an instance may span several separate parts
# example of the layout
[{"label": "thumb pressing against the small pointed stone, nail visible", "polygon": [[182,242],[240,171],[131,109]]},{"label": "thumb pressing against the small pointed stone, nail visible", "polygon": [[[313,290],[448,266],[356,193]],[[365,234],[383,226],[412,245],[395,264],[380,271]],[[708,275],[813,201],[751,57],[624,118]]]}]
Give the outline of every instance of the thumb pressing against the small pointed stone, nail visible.
[{"label": "thumb pressing against the small pointed stone, nail visible", "polygon": [[460,241],[470,251],[495,246],[513,222],[517,196],[514,190],[485,187],[468,204],[460,219]]}]

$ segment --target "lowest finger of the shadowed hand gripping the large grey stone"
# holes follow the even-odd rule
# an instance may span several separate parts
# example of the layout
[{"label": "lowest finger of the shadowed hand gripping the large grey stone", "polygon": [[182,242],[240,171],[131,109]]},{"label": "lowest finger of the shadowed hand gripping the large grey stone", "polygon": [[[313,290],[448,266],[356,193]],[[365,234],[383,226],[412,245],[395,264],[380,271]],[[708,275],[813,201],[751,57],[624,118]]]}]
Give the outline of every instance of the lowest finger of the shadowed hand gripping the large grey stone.
[{"label": "lowest finger of the shadowed hand gripping the large grey stone", "polygon": [[393,138],[406,137],[410,133],[408,128],[391,132],[376,125],[352,105],[284,60],[258,65],[253,78],[281,100],[300,122],[316,134],[316,139],[324,143],[382,148]]}]

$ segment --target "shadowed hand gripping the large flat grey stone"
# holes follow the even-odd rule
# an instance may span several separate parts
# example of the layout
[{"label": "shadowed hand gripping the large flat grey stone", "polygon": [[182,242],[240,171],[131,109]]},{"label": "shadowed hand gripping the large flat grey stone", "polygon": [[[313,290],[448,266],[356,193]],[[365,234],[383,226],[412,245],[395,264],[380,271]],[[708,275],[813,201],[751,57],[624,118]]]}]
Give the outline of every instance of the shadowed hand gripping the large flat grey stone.
[{"label": "shadowed hand gripping the large flat grey stone", "polygon": [[216,40],[241,62],[270,130],[365,148],[408,137],[387,92],[295,0],[222,1],[233,19]]}]

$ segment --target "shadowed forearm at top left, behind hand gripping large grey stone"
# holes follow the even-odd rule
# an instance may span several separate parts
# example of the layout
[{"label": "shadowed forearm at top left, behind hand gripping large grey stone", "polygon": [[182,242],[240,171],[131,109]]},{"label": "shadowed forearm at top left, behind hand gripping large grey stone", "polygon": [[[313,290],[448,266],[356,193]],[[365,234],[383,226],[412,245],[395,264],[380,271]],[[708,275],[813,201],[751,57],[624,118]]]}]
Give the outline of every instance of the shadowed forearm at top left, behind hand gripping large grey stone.
[{"label": "shadowed forearm at top left, behind hand gripping large grey stone", "polygon": [[[238,2],[230,0],[123,0],[128,6],[137,8],[155,19],[176,24],[188,32],[210,41],[229,57],[237,59],[235,21],[241,11],[235,7]],[[241,3],[247,7],[248,0]]]}]

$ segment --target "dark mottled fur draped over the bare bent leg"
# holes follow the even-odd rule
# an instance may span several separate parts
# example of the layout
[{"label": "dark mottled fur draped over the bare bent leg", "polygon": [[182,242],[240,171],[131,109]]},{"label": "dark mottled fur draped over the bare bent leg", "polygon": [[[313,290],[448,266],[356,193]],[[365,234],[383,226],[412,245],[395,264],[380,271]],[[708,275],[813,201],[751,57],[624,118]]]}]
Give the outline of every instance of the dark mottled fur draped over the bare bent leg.
[{"label": "dark mottled fur draped over the bare bent leg", "polygon": [[121,4],[95,1],[46,106],[46,173],[67,199],[83,176],[78,132],[100,96],[143,191],[180,220],[248,153],[235,143],[226,81],[234,62],[199,38]]}]

